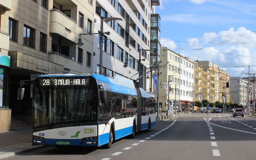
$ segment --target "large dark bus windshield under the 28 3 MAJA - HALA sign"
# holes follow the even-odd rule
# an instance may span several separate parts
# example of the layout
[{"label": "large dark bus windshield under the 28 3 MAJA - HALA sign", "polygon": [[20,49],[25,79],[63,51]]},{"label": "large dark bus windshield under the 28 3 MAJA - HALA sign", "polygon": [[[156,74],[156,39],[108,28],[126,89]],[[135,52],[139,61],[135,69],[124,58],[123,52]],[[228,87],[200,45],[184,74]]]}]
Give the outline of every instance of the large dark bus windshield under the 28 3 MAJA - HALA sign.
[{"label": "large dark bus windshield under the 28 3 MAJA - HALA sign", "polygon": [[33,128],[96,122],[97,99],[92,77],[38,77],[33,85]]}]

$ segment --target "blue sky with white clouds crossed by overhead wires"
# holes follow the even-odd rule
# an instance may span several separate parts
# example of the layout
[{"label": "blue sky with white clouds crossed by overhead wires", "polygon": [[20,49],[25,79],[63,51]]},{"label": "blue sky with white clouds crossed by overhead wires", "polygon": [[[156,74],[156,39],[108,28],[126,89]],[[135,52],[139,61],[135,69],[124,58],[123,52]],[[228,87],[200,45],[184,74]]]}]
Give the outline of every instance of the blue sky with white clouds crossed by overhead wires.
[{"label": "blue sky with white clouds crossed by overhead wires", "polygon": [[256,76],[255,8],[254,0],[160,0],[160,43],[230,76],[246,76],[248,65]]}]

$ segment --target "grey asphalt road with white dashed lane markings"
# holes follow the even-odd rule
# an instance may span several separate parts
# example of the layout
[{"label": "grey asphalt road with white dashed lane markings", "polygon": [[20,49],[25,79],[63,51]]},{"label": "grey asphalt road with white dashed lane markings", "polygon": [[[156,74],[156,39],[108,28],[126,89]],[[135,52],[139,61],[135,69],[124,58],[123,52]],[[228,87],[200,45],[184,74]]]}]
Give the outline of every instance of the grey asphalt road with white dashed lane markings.
[{"label": "grey asphalt road with white dashed lane markings", "polygon": [[[110,149],[46,147],[7,159],[256,159],[256,119],[231,114],[182,114],[157,121],[150,132],[123,138]],[[105,158],[105,159],[104,159]]]}]

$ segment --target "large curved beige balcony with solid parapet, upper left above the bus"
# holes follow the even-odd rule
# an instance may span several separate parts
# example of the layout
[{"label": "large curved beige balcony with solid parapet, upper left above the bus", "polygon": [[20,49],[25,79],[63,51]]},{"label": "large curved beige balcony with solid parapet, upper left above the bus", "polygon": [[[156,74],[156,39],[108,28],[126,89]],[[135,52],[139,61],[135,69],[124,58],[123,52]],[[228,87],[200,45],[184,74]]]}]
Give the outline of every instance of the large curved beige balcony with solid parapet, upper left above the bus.
[{"label": "large curved beige balcony with solid parapet, upper left above the bus", "polygon": [[50,10],[50,33],[57,33],[73,42],[77,42],[74,33],[82,33],[82,29],[76,24],[76,21],[66,16],[57,9]]}]

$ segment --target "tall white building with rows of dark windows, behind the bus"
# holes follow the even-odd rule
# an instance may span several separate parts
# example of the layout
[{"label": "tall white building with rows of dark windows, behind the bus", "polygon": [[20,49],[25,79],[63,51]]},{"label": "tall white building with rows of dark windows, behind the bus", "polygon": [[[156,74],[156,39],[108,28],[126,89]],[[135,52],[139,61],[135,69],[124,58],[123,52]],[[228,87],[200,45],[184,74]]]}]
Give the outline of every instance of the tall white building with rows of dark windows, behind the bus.
[{"label": "tall white building with rows of dark windows, behind the bus", "polygon": [[[150,58],[149,49],[153,39],[160,44],[160,17],[155,14],[155,5],[158,4],[159,1],[150,0],[95,0],[94,33],[100,32],[100,17],[122,19],[103,24],[103,33],[110,32],[103,38],[102,70],[105,76],[119,74],[132,77],[140,70],[141,72],[132,79],[141,76],[139,86],[145,90],[152,89],[152,83],[150,86],[150,79],[146,78],[145,73],[150,67],[150,62],[157,62]],[[152,27],[158,28],[159,33],[151,34]],[[154,49],[159,52],[159,48]],[[98,34],[94,35],[93,51],[96,55],[93,58],[92,72],[99,73],[100,36]],[[139,59],[141,63],[138,62]]]}]

